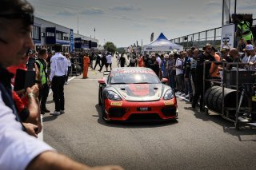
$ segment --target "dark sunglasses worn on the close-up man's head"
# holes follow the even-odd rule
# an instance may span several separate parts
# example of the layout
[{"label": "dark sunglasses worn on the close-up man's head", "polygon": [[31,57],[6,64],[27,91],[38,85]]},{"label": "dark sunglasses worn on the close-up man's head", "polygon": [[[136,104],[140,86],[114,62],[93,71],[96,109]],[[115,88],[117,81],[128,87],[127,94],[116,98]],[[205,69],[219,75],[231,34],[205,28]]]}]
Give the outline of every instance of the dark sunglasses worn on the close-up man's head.
[{"label": "dark sunglasses worn on the close-up man's head", "polygon": [[34,24],[34,15],[30,13],[22,14],[0,14],[0,18],[7,19],[22,19],[25,26],[30,26]]}]

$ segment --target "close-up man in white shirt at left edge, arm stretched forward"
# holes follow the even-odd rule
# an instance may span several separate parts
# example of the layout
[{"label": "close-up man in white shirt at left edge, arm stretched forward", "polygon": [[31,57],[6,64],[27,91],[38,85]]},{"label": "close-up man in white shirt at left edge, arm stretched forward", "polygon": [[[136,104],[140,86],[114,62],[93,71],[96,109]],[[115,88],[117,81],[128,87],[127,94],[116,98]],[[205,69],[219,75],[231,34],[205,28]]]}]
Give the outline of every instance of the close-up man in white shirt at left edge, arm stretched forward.
[{"label": "close-up man in white shirt at left edge, arm stretched forward", "polygon": [[[24,132],[11,94],[11,74],[6,70],[18,65],[33,48],[30,37],[34,9],[26,0],[1,0],[0,6],[0,169],[84,169],[122,170],[118,166],[90,168],[54,151],[48,144]],[[37,94],[26,89],[31,102]]]}]

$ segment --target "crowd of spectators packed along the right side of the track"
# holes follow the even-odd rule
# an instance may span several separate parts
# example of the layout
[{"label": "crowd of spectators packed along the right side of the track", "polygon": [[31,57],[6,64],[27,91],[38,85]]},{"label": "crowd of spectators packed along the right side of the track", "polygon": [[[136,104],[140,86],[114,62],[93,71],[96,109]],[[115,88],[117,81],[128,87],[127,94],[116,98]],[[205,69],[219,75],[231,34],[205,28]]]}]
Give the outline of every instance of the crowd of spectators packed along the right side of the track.
[{"label": "crowd of spectators packed along the right side of the track", "polygon": [[[222,46],[222,49],[218,51],[213,45],[206,44],[202,49],[195,47],[183,51],[174,49],[170,53],[150,53],[146,55],[122,53],[117,54],[120,56],[117,57],[117,61],[118,66],[121,67],[138,66],[153,69],[160,79],[167,78],[169,80],[169,85],[175,90],[176,95],[190,100],[192,108],[195,109],[200,98],[200,111],[204,111],[203,85],[205,84],[206,91],[210,88],[210,82],[203,81],[203,63],[212,61],[206,63],[205,79],[221,81],[223,63],[225,63],[227,70],[235,69],[236,66],[236,64],[229,63],[244,63],[244,65],[239,65],[239,69],[256,71],[255,51],[254,45],[241,39],[238,48]],[[128,64],[124,59],[125,55],[130,59]]]}]

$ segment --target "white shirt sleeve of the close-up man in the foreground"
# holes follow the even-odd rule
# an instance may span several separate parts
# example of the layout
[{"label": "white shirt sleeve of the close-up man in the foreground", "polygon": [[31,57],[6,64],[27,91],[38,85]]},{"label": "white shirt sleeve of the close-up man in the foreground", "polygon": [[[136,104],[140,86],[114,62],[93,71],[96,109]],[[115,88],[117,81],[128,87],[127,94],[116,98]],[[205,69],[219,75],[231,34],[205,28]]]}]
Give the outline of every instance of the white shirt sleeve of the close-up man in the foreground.
[{"label": "white shirt sleeve of the close-up man in the foreground", "polygon": [[25,169],[42,152],[53,151],[48,144],[22,131],[13,111],[2,101],[0,91],[0,169]]}]

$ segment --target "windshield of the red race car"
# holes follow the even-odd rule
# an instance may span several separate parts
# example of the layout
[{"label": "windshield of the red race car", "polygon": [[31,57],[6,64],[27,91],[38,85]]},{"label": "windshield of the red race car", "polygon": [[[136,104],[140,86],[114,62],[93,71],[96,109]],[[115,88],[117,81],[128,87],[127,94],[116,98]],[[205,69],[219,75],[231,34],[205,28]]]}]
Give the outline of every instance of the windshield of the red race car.
[{"label": "windshield of the red race car", "polygon": [[110,77],[110,84],[158,84],[158,77],[152,73],[125,73]]}]

